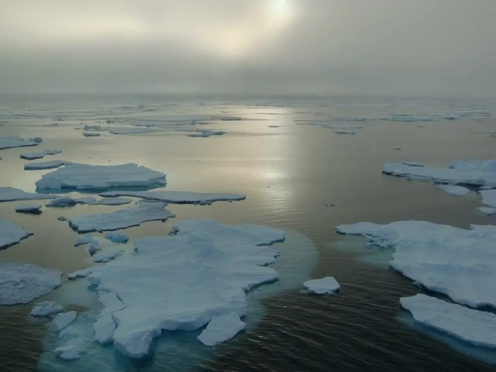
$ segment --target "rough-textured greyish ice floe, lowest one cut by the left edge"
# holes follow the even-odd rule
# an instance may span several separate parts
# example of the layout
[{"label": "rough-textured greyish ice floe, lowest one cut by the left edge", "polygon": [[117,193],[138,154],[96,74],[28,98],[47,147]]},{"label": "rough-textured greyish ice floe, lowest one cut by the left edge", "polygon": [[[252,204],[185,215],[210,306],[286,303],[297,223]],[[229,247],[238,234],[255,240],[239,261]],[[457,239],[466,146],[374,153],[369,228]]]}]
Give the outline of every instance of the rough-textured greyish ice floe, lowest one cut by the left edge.
[{"label": "rough-textured greyish ice floe, lowest one cut by the left edge", "polygon": [[0,305],[28,304],[61,285],[62,271],[0,262]]}]

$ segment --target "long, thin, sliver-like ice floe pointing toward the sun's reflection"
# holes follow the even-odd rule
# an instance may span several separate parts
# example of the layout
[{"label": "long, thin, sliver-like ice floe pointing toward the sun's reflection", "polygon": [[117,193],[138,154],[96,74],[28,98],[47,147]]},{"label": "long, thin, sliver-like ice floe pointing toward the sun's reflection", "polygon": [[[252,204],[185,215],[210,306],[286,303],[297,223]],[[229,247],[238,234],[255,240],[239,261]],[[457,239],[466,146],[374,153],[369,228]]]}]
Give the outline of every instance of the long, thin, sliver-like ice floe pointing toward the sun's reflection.
[{"label": "long, thin, sliver-like ice floe pointing toward the sun's reflection", "polygon": [[245,194],[228,192],[190,192],[190,191],[106,191],[100,196],[131,196],[167,203],[199,203],[200,201],[244,200]]}]

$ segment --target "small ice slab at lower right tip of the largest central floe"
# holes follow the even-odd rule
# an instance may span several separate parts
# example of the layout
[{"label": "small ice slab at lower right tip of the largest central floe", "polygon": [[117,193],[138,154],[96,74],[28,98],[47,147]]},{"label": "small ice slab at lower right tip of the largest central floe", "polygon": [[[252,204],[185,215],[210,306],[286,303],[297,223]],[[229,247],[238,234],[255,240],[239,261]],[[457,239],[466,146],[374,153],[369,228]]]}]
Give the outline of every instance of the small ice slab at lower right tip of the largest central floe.
[{"label": "small ice slab at lower right tip of the largest central floe", "polygon": [[198,340],[207,346],[215,346],[228,341],[247,327],[236,312],[216,316],[207,324],[198,336]]}]

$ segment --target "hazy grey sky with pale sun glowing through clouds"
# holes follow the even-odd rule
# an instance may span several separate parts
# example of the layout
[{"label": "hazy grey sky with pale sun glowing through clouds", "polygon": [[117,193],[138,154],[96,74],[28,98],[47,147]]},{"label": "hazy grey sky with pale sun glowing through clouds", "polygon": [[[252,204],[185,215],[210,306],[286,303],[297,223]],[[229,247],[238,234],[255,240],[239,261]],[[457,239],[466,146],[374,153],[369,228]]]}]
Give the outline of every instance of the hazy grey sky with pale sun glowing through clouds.
[{"label": "hazy grey sky with pale sun glowing through clouds", "polygon": [[0,92],[496,95],[496,0],[0,0]]}]

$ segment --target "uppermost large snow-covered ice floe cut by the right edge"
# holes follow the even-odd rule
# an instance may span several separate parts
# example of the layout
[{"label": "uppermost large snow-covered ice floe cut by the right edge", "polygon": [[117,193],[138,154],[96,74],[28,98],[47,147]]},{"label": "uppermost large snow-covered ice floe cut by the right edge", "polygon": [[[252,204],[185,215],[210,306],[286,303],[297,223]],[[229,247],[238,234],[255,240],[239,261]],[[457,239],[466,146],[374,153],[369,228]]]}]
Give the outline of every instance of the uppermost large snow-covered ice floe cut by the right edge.
[{"label": "uppermost large snow-covered ice floe cut by the right edge", "polygon": [[496,159],[455,160],[448,168],[433,168],[412,165],[412,163],[388,163],[384,165],[382,172],[421,181],[496,186]]}]

